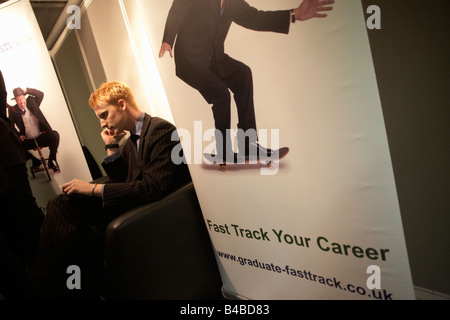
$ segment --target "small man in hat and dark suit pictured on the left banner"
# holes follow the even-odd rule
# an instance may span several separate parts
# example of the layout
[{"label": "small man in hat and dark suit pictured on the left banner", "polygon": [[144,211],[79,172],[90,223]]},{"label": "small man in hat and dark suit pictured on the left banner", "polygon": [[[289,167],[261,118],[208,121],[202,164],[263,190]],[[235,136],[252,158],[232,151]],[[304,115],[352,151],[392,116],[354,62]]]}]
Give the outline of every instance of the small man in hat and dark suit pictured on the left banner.
[{"label": "small man in hat and dark suit pictured on the left banner", "polygon": [[13,94],[16,105],[10,107],[9,119],[19,130],[18,136],[22,142],[26,159],[31,159],[35,168],[41,165],[40,160],[29,152],[36,148],[37,142],[40,148],[49,147],[48,167],[53,171],[59,171],[56,159],[59,133],[52,129],[40,108],[44,93],[32,88],[16,88],[13,90]]}]

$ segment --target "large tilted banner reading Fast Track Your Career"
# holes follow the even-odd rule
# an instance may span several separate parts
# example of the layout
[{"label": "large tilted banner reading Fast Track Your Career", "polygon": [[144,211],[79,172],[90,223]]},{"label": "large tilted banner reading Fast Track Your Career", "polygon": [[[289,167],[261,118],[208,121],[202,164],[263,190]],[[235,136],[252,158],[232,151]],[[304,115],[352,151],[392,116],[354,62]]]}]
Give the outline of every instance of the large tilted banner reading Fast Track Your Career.
[{"label": "large tilted banner reading Fast Track Your Career", "polygon": [[[172,1],[138,3],[157,57]],[[364,8],[333,7],[287,35],[237,24],[228,32],[225,53],[252,70],[261,144],[290,149],[270,168],[206,164],[211,104],[176,77],[168,53],[157,61],[228,297],[414,298]]]}]

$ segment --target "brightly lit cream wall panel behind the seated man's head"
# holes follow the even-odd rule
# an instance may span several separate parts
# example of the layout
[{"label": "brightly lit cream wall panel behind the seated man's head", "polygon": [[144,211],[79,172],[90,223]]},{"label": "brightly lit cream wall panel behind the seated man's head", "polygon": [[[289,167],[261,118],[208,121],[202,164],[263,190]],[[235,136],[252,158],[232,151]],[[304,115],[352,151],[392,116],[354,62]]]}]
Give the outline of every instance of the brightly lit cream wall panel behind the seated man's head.
[{"label": "brightly lit cream wall panel behind the seated man's head", "polygon": [[[94,0],[86,15],[107,79],[129,84],[143,111],[173,122],[154,58],[146,48],[149,43],[140,10],[136,1]],[[149,87],[159,90],[150,92]]]}]

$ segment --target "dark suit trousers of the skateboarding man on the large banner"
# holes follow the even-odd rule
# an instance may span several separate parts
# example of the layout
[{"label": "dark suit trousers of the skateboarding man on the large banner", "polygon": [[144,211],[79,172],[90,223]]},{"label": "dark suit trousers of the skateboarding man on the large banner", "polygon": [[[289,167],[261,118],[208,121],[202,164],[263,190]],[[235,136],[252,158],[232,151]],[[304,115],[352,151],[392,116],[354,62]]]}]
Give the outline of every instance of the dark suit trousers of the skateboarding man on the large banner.
[{"label": "dark suit trousers of the skateboarding man on the large banner", "polygon": [[[244,63],[230,57],[227,61],[229,72],[226,76],[220,76],[215,64],[215,59],[211,60],[209,72],[203,74],[201,84],[196,88],[203,98],[212,104],[214,125],[216,128],[216,148],[219,155],[232,153],[231,136],[228,129],[231,127],[231,95],[233,92],[236,103],[238,129],[244,132],[254,131],[256,137],[256,117],[253,101],[253,76],[251,69]],[[217,137],[217,134],[221,137]],[[221,141],[222,146],[217,142]],[[239,142],[240,143],[240,142]],[[248,144],[248,142],[247,142]]]}]

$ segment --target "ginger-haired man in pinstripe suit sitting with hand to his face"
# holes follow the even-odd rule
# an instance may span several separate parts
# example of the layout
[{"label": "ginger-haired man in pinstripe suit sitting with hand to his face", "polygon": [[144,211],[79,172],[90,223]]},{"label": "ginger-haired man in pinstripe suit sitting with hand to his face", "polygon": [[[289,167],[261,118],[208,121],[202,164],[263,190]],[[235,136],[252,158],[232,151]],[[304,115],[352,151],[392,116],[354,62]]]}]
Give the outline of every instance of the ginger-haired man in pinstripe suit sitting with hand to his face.
[{"label": "ginger-haired man in pinstripe suit sitting with hand to his face", "polygon": [[[107,157],[102,165],[110,181],[74,179],[62,185],[64,194],[49,202],[33,277],[44,298],[98,299],[107,224],[191,181],[187,166],[171,159],[179,143],[172,141],[175,127],[142,112],[127,85],[103,84],[89,105],[104,129]],[[66,287],[70,265],[80,267],[81,290]]]}]

